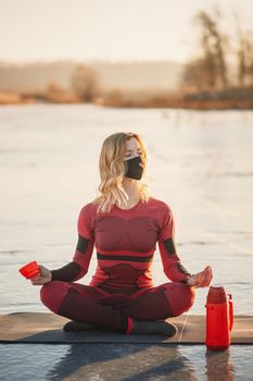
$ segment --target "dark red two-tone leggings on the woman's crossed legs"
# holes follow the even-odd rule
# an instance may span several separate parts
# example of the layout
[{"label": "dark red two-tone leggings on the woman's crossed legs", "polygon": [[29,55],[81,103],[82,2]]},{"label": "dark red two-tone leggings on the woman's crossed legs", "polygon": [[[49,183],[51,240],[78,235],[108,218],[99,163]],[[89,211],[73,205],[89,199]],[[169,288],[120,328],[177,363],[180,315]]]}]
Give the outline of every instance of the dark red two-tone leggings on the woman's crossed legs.
[{"label": "dark red two-tone leggings on the woman's crossed legs", "polygon": [[42,304],[71,320],[127,332],[129,318],[162,320],[189,310],[194,288],[179,282],[147,287],[127,295],[80,283],[52,281],[40,290]]}]

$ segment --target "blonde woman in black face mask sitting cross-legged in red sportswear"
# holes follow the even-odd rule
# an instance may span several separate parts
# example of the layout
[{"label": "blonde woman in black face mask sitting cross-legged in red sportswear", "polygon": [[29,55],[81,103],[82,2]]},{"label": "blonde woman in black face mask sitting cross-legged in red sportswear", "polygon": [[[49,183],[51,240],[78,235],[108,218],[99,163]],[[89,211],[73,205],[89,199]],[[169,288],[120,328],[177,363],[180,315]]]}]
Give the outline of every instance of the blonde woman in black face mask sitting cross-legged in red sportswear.
[{"label": "blonde woman in black face mask sitting cross-legged in red sportswear", "polygon": [[[189,310],[194,288],[211,283],[211,267],[192,275],[180,263],[172,210],[149,195],[141,182],[146,169],[147,150],[138,134],[109,136],[100,155],[101,195],[80,210],[73,261],[51,271],[40,265],[41,274],[31,279],[43,285],[45,306],[72,320],[65,331],[103,327],[173,336],[177,328],[164,320]],[[154,286],[157,242],[172,282]],[[73,283],[87,273],[94,245],[98,266],[90,284]]]}]

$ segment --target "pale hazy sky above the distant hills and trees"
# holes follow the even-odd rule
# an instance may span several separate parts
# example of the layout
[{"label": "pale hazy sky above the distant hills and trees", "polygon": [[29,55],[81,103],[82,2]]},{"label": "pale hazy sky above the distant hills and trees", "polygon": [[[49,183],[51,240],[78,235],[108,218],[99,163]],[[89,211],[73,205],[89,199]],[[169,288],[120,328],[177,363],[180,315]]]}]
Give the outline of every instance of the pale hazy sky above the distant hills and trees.
[{"label": "pale hazy sky above the distant hills and trees", "polygon": [[0,0],[0,61],[186,62],[198,54],[193,15],[223,12],[233,34],[233,13],[253,25],[253,0]]}]

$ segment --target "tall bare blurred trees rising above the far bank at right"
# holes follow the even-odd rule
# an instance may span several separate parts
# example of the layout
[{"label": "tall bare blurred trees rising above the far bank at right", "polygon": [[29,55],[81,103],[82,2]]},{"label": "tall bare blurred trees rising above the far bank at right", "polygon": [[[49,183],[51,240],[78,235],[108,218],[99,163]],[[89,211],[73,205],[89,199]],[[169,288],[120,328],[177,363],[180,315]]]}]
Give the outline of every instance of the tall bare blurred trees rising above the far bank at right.
[{"label": "tall bare blurred trees rising above the far bank at right", "polygon": [[[235,20],[235,34],[228,36],[220,29],[219,11],[211,15],[199,12],[194,21],[200,27],[200,56],[187,63],[182,84],[200,90],[227,88],[237,85],[253,86],[253,34],[244,30],[238,19]],[[233,42],[231,42],[231,40]],[[233,47],[232,47],[233,45]],[[236,77],[229,77],[227,57],[236,62]]]}]

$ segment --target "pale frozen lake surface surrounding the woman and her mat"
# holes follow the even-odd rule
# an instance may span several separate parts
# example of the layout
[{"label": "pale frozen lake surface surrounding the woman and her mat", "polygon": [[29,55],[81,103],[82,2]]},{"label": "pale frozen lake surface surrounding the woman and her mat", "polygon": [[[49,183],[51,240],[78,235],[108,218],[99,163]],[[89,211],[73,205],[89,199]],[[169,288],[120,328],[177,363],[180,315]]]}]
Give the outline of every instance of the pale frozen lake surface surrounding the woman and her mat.
[{"label": "pale frozen lake surface surrounding the woman and her mat", "polygon": [[[79,210],[97,194],[102,142],[119,131],[144,138],[151,194],[173,209],[182,265],[193,273],[211,265],[235,314],[253,314],[253,112],[81,105],[0,107],[0,314],[49,311],[18,268],[72,260]],[[93,256],[78,282],[88,283],[94,266]],[[153,272],[155,284],[166,281],[159,250]],[[205,314],[206,294],[198,290],[192,314]],[[101,345],[1,344],[0,378],[252,380],[251,354],[241,345],[222,354],[201,345],[112,346],[109,355]]]}]

